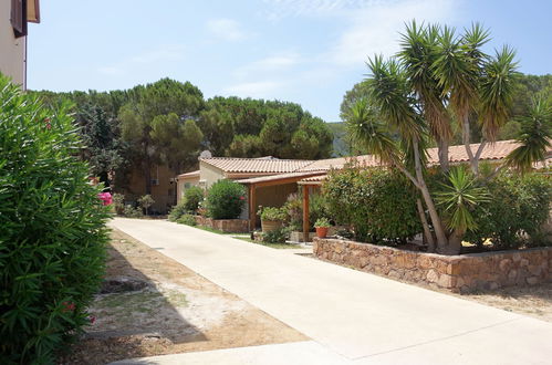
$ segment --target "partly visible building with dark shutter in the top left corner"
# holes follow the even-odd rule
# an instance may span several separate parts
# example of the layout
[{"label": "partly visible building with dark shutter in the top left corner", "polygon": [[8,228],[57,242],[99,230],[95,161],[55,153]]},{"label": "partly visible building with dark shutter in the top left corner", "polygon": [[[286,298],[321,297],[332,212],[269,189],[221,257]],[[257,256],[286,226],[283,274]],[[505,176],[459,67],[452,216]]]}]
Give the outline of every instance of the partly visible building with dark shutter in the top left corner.
[{"label": "partly visible building with dark shutter in the top left corner", "polygon": [[27,90],[28,23],[40,23],[39,0],[0,1],[0,72]]}]

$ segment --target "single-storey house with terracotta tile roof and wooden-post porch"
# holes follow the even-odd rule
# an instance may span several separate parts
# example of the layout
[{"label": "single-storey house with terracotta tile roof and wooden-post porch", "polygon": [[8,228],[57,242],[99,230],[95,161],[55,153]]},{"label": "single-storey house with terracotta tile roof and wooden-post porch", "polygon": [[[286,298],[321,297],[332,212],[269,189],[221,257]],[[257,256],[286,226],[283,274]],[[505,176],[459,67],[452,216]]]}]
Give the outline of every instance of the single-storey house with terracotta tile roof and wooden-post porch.
[{"label": "single-storey house with terracotta tile roof and wooden-post porch", "polygon": [[[514,140],[499,140],[486,144],[481,150],[480,160],[499,161],[519,146]],[[471,150],[478,150],[480,144],[471,144]],[[439,163],[438,149],[428,148],[429,164]],[[190,186],[210,187],[223,178],[233,179],[248,188],[248,206],[242,218],[250,221],[250,229],[259,225],[258,206],[281,207],[287,197],[302,189],[303,215],[309,216],[309,196],[320,189],[331,169],[342,169],[351,159],[356,159],[363,166],[382,166],[374,155],[340,157],[321,160],[293,160],[275,158],[231,158],[211,157],[199,159],[199,170],[183,174],[177,177],[178,201],[186,188]],[[449,147],[449,160],[452,165],[469,161],[464,145]],[[309,219],[304,232],[309,232]]]}]

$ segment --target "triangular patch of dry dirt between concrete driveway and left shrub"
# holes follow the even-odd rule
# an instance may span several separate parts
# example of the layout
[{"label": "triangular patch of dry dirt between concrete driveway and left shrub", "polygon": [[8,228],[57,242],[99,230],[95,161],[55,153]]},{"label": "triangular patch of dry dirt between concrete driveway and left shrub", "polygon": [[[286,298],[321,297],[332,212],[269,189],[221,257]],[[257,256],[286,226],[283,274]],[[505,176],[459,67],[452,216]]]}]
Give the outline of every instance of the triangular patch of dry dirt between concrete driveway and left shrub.
[{"label": "triangular patch of dry dirt between concrete driveway and left shrub", "polygon": [[90,309],[95,323],[86,328],[85,337],[71,354],[60,359],[61,364],[105,364],[131,357],[306,340],[118,230],[112,233],[108,251],[106,280],[132,279],[138,284],[96,295]]}]

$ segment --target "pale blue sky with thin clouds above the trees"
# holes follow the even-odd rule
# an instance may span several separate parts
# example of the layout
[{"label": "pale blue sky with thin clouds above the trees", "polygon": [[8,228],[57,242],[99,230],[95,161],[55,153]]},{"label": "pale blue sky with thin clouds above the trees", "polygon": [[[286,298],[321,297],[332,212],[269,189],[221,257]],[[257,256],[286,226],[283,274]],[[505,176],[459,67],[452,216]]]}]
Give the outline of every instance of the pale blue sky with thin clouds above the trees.
[{"label": "pale blue sky with thin clouds above the trees", "polygon": [[552,1],[511,0],[45,0],[30,27],[32,90],[114,90],[162,77],[206,97],[301,104],[339,121],[368,55],[392,55],[404,22],[480,21],[520,71],[551,73]]}]

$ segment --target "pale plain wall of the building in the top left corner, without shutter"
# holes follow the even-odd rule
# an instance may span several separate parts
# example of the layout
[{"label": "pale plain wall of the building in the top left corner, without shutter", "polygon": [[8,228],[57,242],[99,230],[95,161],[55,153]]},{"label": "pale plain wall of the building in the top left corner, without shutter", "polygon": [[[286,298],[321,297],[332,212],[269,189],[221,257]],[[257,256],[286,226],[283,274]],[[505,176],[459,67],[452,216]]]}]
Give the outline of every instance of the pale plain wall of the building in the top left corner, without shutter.
[{"label": "pale plain wall of the building in the top left corner, without shutter", "polygon": [[0,72],[25,84],[25,36],[15,39],[10,22],[11,1],[0,1]]}]

